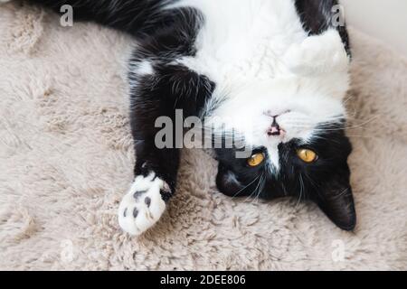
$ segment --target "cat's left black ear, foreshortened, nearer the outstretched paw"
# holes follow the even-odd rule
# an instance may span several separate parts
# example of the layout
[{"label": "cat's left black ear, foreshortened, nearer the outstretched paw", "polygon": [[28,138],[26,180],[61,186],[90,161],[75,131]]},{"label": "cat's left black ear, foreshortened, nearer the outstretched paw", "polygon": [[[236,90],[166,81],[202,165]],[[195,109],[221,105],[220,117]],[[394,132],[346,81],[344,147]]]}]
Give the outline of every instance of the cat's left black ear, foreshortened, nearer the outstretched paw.
[{"label": "cat's left black ear, foreshortened, nearer the outstretched paw", "polygon": [[245,193],[245,186],[237,180],[234,172],[226,169],[221,163],[219,163],[216,176],[216,186],[219,191],[229,197],[243,196]]}]

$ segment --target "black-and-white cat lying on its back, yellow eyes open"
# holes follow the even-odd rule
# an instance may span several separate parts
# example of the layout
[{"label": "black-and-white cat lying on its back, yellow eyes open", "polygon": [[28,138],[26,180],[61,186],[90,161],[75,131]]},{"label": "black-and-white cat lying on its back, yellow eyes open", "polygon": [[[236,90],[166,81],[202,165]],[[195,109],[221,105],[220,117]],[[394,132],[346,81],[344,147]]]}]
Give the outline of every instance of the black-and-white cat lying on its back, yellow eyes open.
[{"label": "black-and-white cat lying on its back, yellow eyes open", "polygon": [[219,191],[312,200],[339,228],[355,228],[344,105],[352,53],[336,0],[29,2],[71,5],[74,21],[137,39],[128,65],[137,163],[118,209],[123,230],[141,235],[175,194],[181,148],[156,145],[156,120],[175,121],[178,110],[222,142],[238,140],[211,141]]}]

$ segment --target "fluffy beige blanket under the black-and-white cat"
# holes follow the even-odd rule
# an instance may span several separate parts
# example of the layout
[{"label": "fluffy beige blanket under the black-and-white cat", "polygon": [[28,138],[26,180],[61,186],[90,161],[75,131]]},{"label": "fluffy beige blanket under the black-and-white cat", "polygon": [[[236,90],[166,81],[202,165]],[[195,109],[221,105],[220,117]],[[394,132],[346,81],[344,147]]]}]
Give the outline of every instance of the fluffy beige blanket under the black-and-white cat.
[{"label": "fluffy beige blanket under the black-and-white cat", "polygon": [[118,228],[132,181],[132,40],[0,7],[0,269],[407,269],[407,61],[352,31],[347,103],[358,224],[297,200],[216,191],[216,163],[185,152],[179,189],[141,238]]}]

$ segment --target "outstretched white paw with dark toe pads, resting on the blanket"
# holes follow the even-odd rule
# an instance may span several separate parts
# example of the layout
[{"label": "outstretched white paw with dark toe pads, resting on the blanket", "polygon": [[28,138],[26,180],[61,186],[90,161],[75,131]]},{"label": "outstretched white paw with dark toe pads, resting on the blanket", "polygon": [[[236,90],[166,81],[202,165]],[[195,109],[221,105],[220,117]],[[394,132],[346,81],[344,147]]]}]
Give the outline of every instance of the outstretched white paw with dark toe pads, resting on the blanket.
[{"label": "outstretched white paw with dark toe pads, resting on the blanket", "polygon": [[155,173],[138,176],[121,200],[118,209],[120,227],[128,234],[138,236],[154,226],[166,210],[161,191],[169,191],[169,187]]}]

